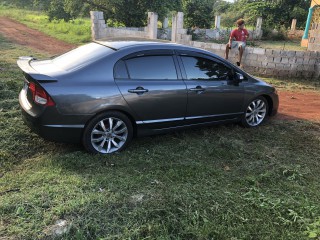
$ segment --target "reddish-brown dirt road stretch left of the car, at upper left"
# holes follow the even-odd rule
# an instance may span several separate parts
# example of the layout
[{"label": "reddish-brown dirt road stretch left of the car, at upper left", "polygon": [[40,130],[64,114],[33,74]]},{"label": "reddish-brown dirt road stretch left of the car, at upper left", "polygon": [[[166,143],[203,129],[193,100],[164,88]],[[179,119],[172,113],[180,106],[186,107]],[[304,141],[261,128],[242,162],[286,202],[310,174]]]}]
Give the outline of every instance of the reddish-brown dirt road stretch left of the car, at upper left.
[{"label": "reddish-brown dirt road stretch left of the car, at upper left", "polygon": [[76,47],[7,17],[0,17],[0,33],[13,43],[52,55],[61,54]]}]

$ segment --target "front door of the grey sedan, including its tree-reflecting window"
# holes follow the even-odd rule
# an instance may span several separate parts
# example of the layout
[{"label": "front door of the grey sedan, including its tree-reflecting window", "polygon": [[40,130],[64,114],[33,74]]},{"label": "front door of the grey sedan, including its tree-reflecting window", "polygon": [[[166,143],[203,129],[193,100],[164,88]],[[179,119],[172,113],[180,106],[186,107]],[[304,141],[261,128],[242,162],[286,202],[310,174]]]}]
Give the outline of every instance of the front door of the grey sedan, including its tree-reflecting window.
[{"label": "front door of the grey sedan, including its tree-reflecting window", "polygon": [[242,114],[244,88],[228,64],[209,55],[181,51],[183,78],[188,89],[186,120],[211,122]]}]

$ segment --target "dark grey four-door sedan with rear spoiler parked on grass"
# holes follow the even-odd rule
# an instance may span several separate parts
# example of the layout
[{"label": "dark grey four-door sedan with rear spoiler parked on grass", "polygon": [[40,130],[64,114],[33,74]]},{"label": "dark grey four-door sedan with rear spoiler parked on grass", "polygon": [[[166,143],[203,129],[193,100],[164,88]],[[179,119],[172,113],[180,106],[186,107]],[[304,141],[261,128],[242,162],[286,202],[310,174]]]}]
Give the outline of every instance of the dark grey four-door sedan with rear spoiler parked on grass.
[{"label": "dark grey four-door sedan with rear spoiler parked on grass", "polygon": [[17,64],[24,122],[45,139],[82,143],[92,153],[194,126],[257,127],[279,106],[271,85],[209,51],[174,43],[94,41]]}]

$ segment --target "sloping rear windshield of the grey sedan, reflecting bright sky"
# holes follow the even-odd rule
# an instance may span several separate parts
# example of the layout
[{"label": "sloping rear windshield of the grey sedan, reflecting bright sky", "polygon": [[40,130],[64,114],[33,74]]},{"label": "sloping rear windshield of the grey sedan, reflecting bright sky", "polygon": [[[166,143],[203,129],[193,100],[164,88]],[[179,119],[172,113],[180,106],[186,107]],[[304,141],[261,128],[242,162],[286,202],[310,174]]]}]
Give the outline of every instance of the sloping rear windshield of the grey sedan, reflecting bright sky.
[{"label": "sloping rear windshield of the grey sedan, reflecting bright sky", "polygon": [[52,62],[59,68],[71,71],[84,67],[113,52],[114,50],[106,46],[89,43],[54,58]]}]

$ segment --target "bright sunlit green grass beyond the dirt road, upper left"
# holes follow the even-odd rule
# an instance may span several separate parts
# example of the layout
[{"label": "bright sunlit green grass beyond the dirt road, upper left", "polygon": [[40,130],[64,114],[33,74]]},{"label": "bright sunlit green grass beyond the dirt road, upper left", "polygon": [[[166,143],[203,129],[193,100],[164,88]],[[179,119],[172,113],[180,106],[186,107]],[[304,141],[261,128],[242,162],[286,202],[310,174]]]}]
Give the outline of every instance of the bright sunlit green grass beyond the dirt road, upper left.
[{"label": "bright sunlit green grass beyond the dirt road, upper left", "polygon": [[48,16],[43,13],[3,5],[0,5],[0,16],[10,17],[30,28],[69,43],[81,44],[91,41],[91,21],[89,18],[79,18],[70,22],[64,20],[50,22]]}]

